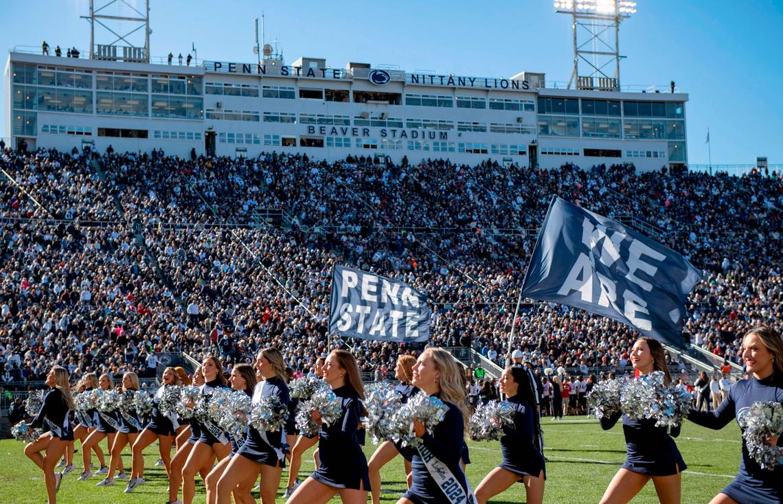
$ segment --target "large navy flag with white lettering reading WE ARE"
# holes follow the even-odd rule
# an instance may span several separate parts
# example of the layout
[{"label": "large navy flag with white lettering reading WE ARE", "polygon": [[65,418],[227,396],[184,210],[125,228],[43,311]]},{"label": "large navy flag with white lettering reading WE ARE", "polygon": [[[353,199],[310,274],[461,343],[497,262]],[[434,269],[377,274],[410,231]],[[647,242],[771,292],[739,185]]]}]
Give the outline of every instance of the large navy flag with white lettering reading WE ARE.
[{"label": "large navy flag with white lettering reading WE ARE", "polygon": [[674,250],[554,196],[522,295],[604,315],[681,347],[685,302],[701,279]]}]

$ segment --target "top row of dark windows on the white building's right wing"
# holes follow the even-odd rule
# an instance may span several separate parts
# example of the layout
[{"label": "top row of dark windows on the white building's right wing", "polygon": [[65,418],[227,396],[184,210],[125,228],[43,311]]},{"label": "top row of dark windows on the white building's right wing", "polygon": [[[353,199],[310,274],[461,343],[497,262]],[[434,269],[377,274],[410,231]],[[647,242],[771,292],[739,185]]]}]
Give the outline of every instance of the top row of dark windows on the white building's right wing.
[{"label": "top row of dark windows on the white building's right wing", "polygon": [[[540,114],[565,113],[579,115],[578,98],[539,98]],[[684,104],[680,102],[639,102],[614,99],[581,99],[583,116],[608,117],[661,117],[682,119],[685,117]],[[621,113],[622,104],[622,113]]]}]

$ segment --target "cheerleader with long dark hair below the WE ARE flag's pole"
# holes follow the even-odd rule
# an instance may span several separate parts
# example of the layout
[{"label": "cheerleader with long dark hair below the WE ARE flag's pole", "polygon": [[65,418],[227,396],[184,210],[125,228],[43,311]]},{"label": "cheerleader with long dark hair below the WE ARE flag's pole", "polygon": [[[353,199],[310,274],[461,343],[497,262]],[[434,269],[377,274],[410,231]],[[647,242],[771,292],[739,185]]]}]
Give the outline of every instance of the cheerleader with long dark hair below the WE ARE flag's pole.
[{"label": "cheerleader with long dark hair below the WE ARE flag's pole", "polygon": [[500,376],[500,393],[506,394],[506,401],[514,408],[514,425],[503,426],[503,437],[500,437],[503,461],[478,484],[476,502],[485,504],[493,495],[520,482],[525,485],[525,502],[539,504],[543,502],[546,470],[543,455],[534,442],[539,419],[525,369],[505,369]]}]

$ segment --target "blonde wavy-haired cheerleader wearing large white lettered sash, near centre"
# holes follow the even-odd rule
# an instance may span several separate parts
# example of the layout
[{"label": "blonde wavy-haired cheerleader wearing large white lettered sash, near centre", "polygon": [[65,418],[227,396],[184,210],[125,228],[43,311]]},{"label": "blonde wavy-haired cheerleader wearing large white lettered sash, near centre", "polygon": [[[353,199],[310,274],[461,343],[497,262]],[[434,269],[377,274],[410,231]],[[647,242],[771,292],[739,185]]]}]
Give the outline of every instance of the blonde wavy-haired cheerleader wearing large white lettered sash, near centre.
[{"label": "blonde wavy-haired cheerleader wearing large white lettered sash, near centre", "polygon": [[[446,477],[443,473],[451,473],[450,476],[460,485],[461,491],[464,492],[462,499],[466,502],[473,499],[471,488],[460,466],[467,423],[465,387],[462,386],[461,373],[460,364],[451,354],[435,347],[424,350],[413,365],[413,385],[419,387],[424,394],[440,398],[449,409],[432,434],[426,432],[423,423],[418,420],[413,422],[413,431],[417,437],[421,437],[422,448],[402,449],[402,455],[411,459],[413,470],[411,486],[397,504],[450,502],[436,480],[436,477]],[[433,456],[425,461],[420,452],[422,449]],[[427,464],[433,468],[437,466],[437,476],[430,472]]]}]

